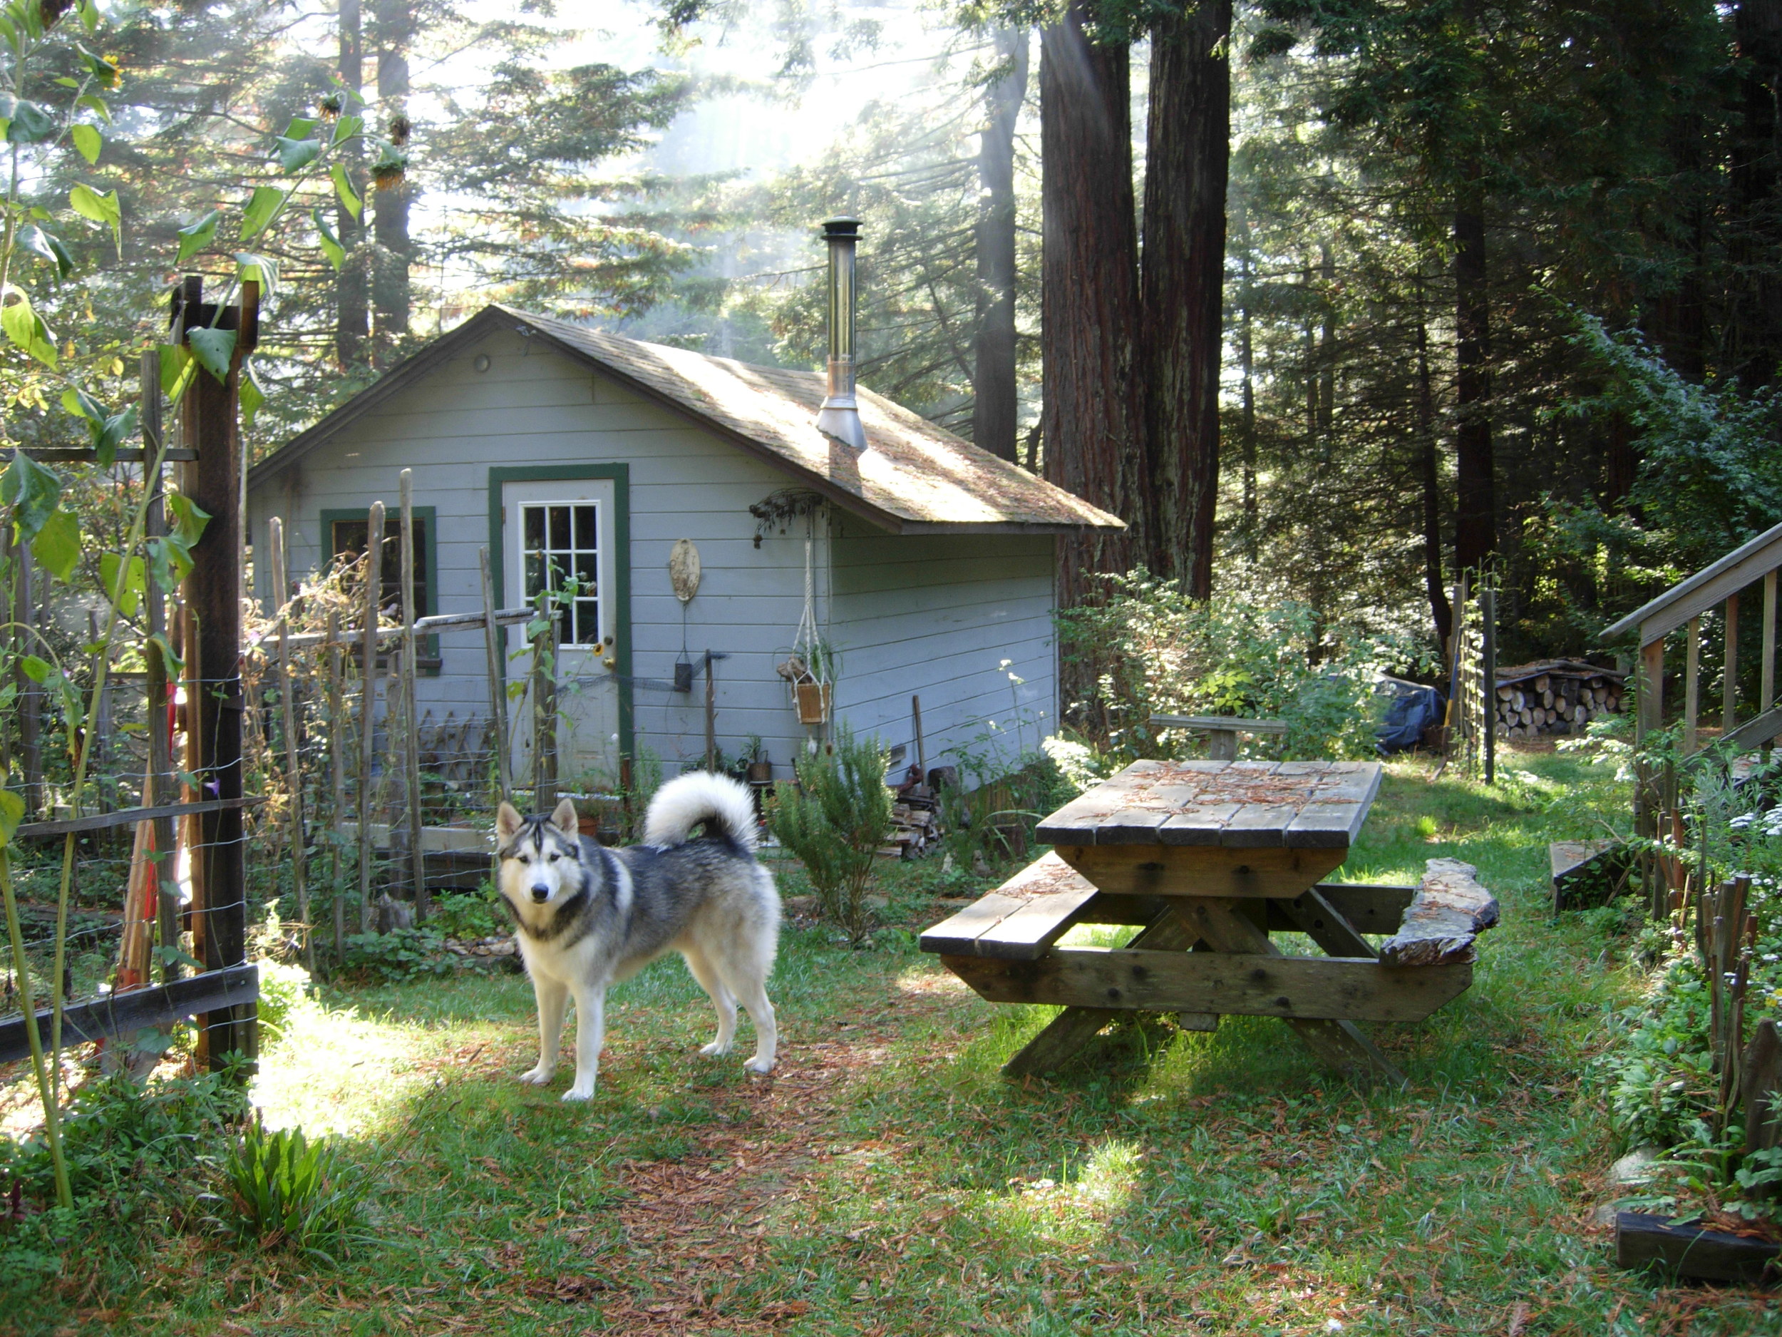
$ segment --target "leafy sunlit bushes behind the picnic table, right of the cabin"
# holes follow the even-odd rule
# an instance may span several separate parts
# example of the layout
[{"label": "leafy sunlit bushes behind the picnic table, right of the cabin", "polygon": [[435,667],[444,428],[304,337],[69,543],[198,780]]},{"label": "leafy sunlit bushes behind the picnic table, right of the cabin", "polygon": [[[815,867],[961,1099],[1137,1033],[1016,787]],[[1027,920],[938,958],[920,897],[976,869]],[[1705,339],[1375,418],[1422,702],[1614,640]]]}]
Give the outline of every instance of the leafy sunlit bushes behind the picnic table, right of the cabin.
[{"label": "leafy sunlit bushes behind the picnic table, right of the cabin", "polygon": [[1406,658],[1385,638],[1320,624],[1304,604],[1190,599],[1174,581],[1135,570],[1107,578],[1098,604],[1059,613],[1066,660],[1094,681],[1069,718],[1105,758],[1173,756],[1187,738],[1151,715],[1279,718],[1285,736],[1246,743],[1253,756],[1372,756],[1376,674]]}]

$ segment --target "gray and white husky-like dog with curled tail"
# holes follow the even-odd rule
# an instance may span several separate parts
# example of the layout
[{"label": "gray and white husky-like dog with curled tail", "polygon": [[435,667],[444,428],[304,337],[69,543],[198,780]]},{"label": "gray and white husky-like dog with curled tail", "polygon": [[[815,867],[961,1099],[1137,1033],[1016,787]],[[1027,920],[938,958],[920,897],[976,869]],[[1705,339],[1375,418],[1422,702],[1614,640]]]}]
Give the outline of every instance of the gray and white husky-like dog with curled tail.
[{"label": "gray and white husky-like dog with curled tail", "polygon": [[743,1066],[773,1071],[779,1032],[766,980],[779,948],[779,891],[756,861],[756,808],[745,786],[707,772],[668,781],[650,799],[643,843],[629,849],[581,836],[568,799],[549,816],[501,804],[495,840],[501,895],[538,998],[538,1066],[520,1073],[522,1082],[551,1080],[563,1005],[574,997],[576,1082],[563,1100],[588,1100],[608,986],[666,952],[686,957],[718,1009],[718,1038],[700,1054],[731,1052],[741,1002],[756,1023],[756,1055]]}]

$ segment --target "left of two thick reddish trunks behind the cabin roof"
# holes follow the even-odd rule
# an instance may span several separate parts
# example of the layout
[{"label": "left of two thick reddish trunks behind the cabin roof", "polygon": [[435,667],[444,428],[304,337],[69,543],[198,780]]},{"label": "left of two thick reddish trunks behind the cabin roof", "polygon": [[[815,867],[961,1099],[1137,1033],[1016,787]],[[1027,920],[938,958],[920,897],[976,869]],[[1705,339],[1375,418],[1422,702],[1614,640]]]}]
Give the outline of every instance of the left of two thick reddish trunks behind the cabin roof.
[{"label": "left of two thick reddish trunks behind the cabin roof", "polygon": [[1130,528],[1059,540],[1060,608],[1094,597],[1094,572],[1149,551],[1130,53],[1091,43],[1085,11],[1073,0],[1041,34],[1044,471]]}]

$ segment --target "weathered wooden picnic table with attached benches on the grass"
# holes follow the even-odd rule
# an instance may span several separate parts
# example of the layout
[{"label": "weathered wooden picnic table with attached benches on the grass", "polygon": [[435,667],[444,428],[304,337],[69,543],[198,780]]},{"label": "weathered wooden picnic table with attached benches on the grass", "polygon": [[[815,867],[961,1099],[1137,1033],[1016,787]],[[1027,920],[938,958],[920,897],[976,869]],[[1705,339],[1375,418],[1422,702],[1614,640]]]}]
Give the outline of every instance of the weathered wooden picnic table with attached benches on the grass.
[{"label": "weathered wooden picnic table with attached benches on the grass", "polygon": [[[1497,922],[1475,870],[1420,886],[1320,882],[1379,790],[1376,761],[1135,761],[1039,824],[1046,854],[921,936],[991,1002],[1062,1004],[1005,1071],[1042,1073],[1121,1013],[1278,1016],[1324,1062],[1402,1080],[1356,1021],[1420,1021],[1472,984]],[[1124,947],[1059,947],[1078,923],[1142,925]],[[1324,956],[1285,956],[1271,932]],[[1369,936],[1386,936],[1376,947]]]}]

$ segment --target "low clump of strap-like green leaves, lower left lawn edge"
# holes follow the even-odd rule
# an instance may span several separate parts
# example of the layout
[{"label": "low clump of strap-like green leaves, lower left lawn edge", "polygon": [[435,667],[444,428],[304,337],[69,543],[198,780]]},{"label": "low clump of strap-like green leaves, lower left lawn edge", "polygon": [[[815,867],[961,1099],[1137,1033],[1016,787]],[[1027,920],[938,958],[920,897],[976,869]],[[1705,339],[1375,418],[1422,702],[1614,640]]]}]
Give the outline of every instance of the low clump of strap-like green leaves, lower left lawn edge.
[{"label": "low clump of strap-like green leaves, lower left lawn edge", "polygon": [[233,1209],[228,1225],[260,1246],[290,1244],[331,1264],[353,1243],[364,1189],[330,1137],[267,1132],[255,1116],[225,1157],[223,1180]]}]

